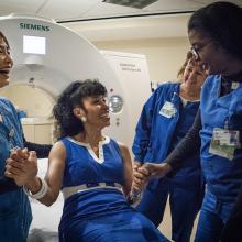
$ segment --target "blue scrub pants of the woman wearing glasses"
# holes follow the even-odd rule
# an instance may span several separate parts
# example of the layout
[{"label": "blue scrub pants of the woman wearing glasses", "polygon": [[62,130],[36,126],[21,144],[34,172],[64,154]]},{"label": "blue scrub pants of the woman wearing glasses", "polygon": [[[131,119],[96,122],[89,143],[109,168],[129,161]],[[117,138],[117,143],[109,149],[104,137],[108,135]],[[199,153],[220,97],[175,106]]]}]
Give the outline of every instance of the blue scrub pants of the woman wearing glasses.
[{"label": "blue scrub pants of the woman wearing glasses", "polygon": [[207,191],[201,206],[195,242],[219,242],[233,206],[234,204],[219,201],[213,194]]}]

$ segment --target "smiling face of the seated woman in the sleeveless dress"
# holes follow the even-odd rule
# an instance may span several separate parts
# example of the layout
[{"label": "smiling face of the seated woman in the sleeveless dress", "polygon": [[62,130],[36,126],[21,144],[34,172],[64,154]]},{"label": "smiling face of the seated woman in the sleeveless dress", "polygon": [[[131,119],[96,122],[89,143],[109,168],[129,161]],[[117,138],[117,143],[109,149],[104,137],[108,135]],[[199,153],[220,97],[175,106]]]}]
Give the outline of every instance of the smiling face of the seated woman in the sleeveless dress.
[{"label": "smiling face of the seated woman in the sleeveless dress", "polygon": [[110,125],[109,107],[105,96],[86,97],[82,99],[82,106],[87,118],[85,124],[91,124],[99,129]]}]

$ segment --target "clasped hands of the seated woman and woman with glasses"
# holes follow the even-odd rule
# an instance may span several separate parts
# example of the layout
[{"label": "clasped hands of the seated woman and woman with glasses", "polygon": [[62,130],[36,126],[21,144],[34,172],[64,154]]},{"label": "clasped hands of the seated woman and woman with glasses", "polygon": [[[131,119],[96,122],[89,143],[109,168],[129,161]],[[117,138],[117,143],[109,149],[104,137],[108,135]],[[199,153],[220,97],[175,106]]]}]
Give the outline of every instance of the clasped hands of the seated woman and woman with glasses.
[{"label": "clasped hands of the seated woman and woman with glasses", "polygon": [[168,163],[141,163],[133,164],[133,184],[132,191],[140,194],[147,185],[150,179],[162,178],[172,170]]}]

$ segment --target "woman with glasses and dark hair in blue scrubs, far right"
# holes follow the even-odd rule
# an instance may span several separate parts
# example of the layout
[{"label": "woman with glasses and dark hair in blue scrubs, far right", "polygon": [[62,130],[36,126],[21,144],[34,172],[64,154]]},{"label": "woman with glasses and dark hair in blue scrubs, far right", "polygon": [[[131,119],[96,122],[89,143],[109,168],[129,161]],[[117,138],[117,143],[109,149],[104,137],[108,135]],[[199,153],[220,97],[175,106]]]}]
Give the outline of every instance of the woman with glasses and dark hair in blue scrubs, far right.
[{"label": "woman with glasses and dark hair in blue scrubs, far right", "polygon": [[136,185],[142,185],[142,174],[143,178],[148,173],[162,177],[200,148],[207,189],[196,242],[219,241],[231,211],[222,240],[242,241],[241,23],[242,9],[230,2],[215,2],[191,15],[188,22],[191,50],[210,75],[202,87],[200,111],[193,129],[163,164],[146,164],[135,175]]}]

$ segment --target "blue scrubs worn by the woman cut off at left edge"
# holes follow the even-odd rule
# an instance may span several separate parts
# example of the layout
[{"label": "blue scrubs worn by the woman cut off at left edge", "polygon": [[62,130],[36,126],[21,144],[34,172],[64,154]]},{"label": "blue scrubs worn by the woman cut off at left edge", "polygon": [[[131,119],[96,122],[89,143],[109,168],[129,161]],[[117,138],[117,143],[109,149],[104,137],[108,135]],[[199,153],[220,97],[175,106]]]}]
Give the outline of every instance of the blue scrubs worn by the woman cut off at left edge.
[{"label": "blue scrubs worn by the woman cut off at left edge", "polygon": [[[23,147],[22,127],[13,105],[0,98],[0,176],[4,175],[10,148]],[[23,189],[0,195],[0,241],[26,240],[32,220],[29,198]]]}]

